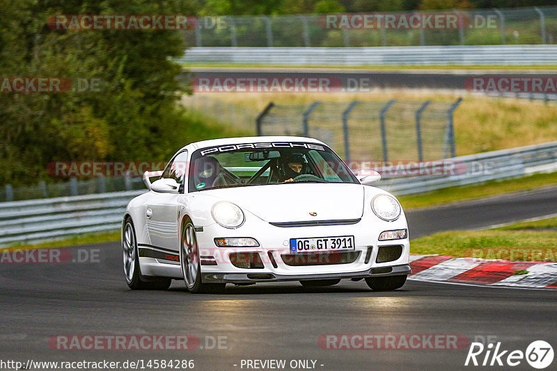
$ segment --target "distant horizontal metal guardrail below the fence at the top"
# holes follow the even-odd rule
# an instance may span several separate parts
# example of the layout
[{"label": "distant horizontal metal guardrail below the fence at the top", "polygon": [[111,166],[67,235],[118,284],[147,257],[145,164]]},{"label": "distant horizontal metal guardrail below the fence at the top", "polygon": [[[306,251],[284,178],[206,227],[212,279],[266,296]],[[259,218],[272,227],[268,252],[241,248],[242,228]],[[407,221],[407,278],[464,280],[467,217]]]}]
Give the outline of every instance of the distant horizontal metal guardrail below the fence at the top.
[{"label": "distant horizontal metal guardrail below the fence at the top", "polygon": [[194,47],[180,63],[241,65],[557,65],[557,45]]}]

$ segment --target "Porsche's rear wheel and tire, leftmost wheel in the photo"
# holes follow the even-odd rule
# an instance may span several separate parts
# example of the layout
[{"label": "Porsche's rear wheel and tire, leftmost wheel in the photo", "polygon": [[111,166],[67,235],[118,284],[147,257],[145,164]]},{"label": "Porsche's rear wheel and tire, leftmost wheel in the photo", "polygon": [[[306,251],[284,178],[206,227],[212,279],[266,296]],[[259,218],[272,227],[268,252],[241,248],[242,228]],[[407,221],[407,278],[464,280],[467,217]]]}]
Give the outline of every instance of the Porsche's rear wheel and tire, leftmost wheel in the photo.
[{"label": "Porsche's rear wheel and tire, leftmost wheel in the photo", "polygon": [[170,287],[171,279],[144,277],[141,274],[134,223],[130,217],[125,220],[124,232],[122,234],[122,249],[124,275],[129,288],[132,290],[166,290]]}]

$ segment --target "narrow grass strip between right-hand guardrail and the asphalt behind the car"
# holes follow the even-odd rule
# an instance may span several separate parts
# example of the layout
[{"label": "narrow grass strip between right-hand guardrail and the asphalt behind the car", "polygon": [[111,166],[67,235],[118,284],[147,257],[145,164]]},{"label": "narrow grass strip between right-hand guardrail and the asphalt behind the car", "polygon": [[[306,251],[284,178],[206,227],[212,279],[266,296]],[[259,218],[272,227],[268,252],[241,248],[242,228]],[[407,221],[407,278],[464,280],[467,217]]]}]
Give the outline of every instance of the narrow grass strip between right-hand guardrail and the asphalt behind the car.
[{"label": "narrow grass strip between right-hand guardrail and the asphalt behind the car", "polygon": [[[524,178],[508,179],[505,181],[488,181],[474,186],[444,188],[421,195],[400,196],[398,200],[405,210],[409,210],[411,208],[425,208],[521,190],[531,190],[551,184],[557,184],[557,172],[533,174]],[[380,186],[380,182],[378,186]]]}]

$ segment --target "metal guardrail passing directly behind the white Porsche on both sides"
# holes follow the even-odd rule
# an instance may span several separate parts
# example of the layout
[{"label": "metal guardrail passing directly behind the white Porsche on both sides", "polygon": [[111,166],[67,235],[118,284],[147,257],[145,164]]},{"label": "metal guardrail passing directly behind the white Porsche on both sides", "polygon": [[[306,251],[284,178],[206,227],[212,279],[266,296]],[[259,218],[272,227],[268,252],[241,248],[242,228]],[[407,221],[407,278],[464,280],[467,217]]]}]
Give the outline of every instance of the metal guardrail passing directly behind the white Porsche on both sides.
[{"label": "metal guardrail passing directly behind the white Porsche on both sides", "polygon": [[[446,176],[391,176],[377,187],[395,195],[429,192],[441,188],[508,179],[535,172],[557,171],[557,142],[485,152],[441,160],[453,163],[455,174]],[[482,165],[479,172],[475,171]],[[464,171],[465,170],[465,171]],[[111,192],[0,203],[0,246],[14,242],[40,242],[78,233],[116,231],[125,206],[146,190]]]}]

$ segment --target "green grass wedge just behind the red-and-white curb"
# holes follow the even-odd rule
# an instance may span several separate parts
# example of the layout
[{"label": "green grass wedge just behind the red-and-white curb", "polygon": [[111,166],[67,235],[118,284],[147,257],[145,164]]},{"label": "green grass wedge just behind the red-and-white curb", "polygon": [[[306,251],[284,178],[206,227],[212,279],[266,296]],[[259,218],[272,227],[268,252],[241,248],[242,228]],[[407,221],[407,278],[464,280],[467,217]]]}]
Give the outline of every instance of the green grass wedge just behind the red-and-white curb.
[{"label": "green grass wedge just behind the red-and-white curb", "polygon": [[[485,231],[450,231],[412,240],[412,254],[439,254],[510,261],[557,262],[557,217]],[[540,229],[536,231],[535,229]]]}]

